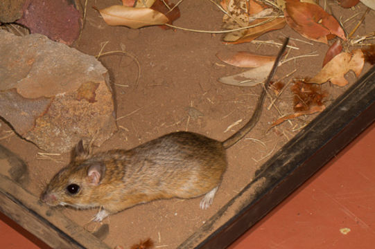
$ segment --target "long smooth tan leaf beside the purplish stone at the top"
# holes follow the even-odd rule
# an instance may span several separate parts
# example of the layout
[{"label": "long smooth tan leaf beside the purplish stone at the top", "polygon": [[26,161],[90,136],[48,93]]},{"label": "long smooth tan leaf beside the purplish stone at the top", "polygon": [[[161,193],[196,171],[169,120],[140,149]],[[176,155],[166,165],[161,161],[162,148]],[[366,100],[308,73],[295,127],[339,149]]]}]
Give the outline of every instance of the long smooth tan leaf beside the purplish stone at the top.
[{"label": "long smooth tan leaf beside the purplish stone at the top", "polygon": [[110,6],[99,10],[104,21],[111,26],[128,26],[141,28],[143,26],[166,24],[168,18],[150,8],[131,8],[126,6]]}]

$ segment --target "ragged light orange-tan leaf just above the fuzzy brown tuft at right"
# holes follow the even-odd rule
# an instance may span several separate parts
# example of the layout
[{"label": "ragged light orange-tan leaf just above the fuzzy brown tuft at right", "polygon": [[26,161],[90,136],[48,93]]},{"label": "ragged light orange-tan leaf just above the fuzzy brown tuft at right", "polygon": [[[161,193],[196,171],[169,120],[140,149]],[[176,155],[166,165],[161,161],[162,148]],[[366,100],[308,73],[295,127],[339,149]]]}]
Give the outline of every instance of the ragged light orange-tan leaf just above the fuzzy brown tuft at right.
[{"label": "ragged light orange-tan leaf just above the fuzzy brown tuft at right", "polygon": [[345,86],[348,84],[345,74],[351,70],[358,77],[362,72],[364,64],[365,58],[360,49],[353,50],[351,53],[340,53],[333,57],[315,77],[308,80],[308,83],[322,84],[330,81],[332,84]]}]

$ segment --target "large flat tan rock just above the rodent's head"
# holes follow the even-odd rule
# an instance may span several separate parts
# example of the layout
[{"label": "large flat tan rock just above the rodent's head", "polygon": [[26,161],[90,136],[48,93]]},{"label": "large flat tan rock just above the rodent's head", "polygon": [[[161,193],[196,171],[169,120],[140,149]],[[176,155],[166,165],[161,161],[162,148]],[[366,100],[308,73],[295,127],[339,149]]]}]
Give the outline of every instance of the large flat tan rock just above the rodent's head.
[{"label": "large flat tan rock just above the rodent's head", "polygon": [[44,35],[0,30],[0,116],[41,149],[100,146],[116,131],[107,69]]}]

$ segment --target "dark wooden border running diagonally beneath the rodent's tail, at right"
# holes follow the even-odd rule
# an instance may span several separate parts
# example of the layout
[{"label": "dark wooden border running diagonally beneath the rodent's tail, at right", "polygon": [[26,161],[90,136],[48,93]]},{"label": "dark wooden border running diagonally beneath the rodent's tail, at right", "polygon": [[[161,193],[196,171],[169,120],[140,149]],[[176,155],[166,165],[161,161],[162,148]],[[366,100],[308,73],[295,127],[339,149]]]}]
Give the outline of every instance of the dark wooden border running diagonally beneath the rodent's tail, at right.
[{"label": "dark wooden border running diagonally beneath the rodent's tail, at right", "polygon": [[[264,163],[256,178],[229,201],[236,202],[256,181],[265,179],[244,208],[214,232],[209,226],[200,228],[179,248],[226,248],[374,121],[375,66]],[[228,204],[217,214],[227,212]],[[216,222],[213,218],[210,225]]]}]

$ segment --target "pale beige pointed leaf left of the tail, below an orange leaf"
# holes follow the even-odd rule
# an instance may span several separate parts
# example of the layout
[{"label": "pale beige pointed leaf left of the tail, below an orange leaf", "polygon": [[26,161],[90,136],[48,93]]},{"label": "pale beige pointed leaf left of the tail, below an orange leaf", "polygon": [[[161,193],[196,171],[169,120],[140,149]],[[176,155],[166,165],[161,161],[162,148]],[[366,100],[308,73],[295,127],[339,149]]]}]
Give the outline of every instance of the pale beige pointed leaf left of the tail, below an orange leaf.
[{"label": "pale beige pointed leaf left of the tail, below an orange leaf", "polygon": [[256,68],[252,68],[243,73],[238,73],[236,75],[220,77],[218,80],[224,84],[230,84],[234,86],[255,86],[261,82],[264,82],[268,77],[274,62],[268,62]]}]

